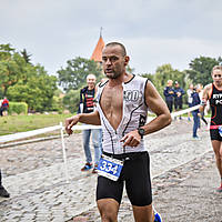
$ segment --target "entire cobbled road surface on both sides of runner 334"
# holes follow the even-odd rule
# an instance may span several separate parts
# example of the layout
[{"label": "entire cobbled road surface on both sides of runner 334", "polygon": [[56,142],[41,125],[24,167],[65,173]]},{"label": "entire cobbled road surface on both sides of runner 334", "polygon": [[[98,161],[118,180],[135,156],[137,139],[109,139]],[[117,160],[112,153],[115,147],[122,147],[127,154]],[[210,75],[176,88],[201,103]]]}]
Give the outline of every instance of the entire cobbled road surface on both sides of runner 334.
[{"label": "entire cobbled road surface on both sides of runner 334", "polygon": [[[219,175],[203,127],[192,140],[192,123],[173,123],[145,137],[151,157],[153,199],[164,221],[221,222]],[[70,182],[65,182],[60,139],[0,149],[3,184],[10,199],[0,199],[0,222],[100,221],[94,201],[97,175],[82,173],[81,133],[65,138]],[[124,195],[119,221],[133,222]]]}]

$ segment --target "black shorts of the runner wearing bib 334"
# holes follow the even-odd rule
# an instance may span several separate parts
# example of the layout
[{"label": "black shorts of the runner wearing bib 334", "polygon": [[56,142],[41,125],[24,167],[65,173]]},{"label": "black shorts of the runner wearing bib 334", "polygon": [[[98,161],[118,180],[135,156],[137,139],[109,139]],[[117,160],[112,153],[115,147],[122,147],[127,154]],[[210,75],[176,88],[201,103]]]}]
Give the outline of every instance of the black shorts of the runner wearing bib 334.
[{"label": "black shorts of the runner wearing bib 334", "polygon": [[144,206],[152,203],[150,157],[147,151],[123,154],[110,154],[118,160],[123,160],[123,168],[118,181],[98,176],[97,201],[101,199],[114,199],[121,203],[123,185],[132,205]]}]

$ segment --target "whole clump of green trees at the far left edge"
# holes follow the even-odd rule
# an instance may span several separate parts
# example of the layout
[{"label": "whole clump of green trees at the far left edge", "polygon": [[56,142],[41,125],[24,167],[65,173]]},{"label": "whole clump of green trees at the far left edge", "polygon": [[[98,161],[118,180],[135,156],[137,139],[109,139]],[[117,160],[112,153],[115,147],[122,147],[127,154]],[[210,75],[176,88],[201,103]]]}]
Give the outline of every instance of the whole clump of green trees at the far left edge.
[{"label": "whole clump of green trees at the far left edge", "polygon": [[53,107],[57,77],[31,64],[26,50],[20,54],[10,44],[0,44],[0,90],[10,101],[28,103],[31,111],[47,111]]}]

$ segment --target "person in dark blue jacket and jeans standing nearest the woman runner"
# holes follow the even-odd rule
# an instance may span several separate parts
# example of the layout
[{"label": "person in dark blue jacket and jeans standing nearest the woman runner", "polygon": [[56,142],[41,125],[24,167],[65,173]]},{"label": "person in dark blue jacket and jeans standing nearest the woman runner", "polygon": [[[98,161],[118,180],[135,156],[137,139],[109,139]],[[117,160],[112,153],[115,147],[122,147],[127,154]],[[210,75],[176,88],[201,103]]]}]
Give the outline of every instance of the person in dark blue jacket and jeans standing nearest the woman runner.
[{"label": "person in dark blue jacket and jeans standing nearest the woman runner", "polygon": [[[193,93],[191,94],[191,97],[192,97],[191,107],[195,107],[195,105],[201,103],[199,92],[200,92],[200,87],[195,85],[194,89],[193,89]],[[200,140],[200,138],[196,134],[198,128],[200,125],[199,109],[192,111],[192,115],[193,115],[193,139]]]}]

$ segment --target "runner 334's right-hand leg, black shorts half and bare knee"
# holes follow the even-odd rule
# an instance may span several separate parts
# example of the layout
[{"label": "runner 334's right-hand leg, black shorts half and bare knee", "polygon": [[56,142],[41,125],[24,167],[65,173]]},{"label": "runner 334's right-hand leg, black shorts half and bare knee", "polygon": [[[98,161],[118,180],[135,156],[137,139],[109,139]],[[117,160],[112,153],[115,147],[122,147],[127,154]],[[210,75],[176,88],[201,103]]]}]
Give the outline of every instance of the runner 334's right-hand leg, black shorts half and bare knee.
[{"label": "runner 334's right-hand leg, black shorts half and bare knee", "polygon": [[150,157],[144,152],[125,161],[125,189],[137,222],[153,222]]}]

